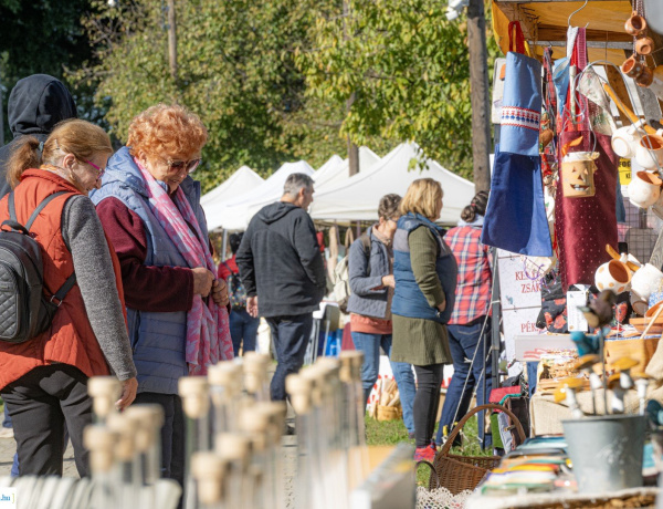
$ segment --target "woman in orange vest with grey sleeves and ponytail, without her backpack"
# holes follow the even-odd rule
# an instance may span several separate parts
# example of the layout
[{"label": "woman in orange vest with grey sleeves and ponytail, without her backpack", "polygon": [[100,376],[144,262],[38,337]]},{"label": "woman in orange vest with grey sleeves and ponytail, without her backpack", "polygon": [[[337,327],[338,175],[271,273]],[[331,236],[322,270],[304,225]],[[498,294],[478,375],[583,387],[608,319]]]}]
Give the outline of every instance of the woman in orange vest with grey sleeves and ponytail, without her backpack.
[{"label": "woman in orange vest with grey sleeves and ponytail, without her backpack", "polygon": [[65,422],[78,474],[90,474],[83,447],[92,424],[88,377],[115,373],[124,385],[120,409],[136,396],[119,264],[87,198],[112,153],[101,127],[72,120],[45,143],[23,136],[9,160],[13,190],[0,201],[0,222],[31,222],[43,299],[60,301],[44,332],[22,343],[0,341],[0,394],[14,423],[21,476],[62,475]]}]

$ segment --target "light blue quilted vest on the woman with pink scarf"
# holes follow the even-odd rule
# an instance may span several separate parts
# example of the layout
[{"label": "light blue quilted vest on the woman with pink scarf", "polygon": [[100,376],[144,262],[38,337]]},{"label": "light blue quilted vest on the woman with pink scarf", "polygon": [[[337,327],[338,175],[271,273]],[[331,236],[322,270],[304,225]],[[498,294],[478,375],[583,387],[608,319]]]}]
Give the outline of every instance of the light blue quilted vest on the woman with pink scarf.
[{"label": "light blue quilted vest on the woman with pink scarf", "polygon": [[[207,222],[200,207],[200,183],[187,177],[180,187],[207,240]],[[151,214],[146,183],[127,147],[119,149],[108,160],[102,188],[91,194],[95,205],[109,197],[122,200],[143,219],[148,242],[146,266],[188,267],[177,246]],[[149,298],[145,295],[146,300]],[[127,308],[127,320],[134,363],[138,370],[138,392],[177,394],[178,378],[189,374],[185,359],[187,313],[156,313]]]}]

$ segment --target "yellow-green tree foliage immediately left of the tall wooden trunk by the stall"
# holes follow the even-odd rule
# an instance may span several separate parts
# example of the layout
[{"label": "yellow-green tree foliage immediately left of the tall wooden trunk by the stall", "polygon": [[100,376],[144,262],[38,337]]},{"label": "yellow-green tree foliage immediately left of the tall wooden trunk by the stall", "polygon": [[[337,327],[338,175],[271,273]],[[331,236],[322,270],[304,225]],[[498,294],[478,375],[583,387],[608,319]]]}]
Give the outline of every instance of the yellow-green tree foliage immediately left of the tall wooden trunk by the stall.
[{"label": "yellow-green tree foliage immediately left of the tall wooden trunk by the stall", "polygon": [[351,106],[341,132],[415,141],[428,157],[471,178],[466,30],[439,0],[320,3],[297,63],[307,94]]}]

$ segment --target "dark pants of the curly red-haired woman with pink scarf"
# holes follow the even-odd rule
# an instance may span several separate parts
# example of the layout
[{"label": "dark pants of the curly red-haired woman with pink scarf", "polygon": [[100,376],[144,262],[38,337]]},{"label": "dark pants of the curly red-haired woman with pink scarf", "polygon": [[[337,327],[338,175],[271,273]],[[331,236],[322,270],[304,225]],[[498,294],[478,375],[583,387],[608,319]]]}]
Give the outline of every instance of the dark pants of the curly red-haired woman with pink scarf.
[{"label": "dark pants of the curly red-haired woman with pink scarf", "polygon": [[[164,408],[161,427],[161,477],[185,486],[185,414],[177,394],[139,393],[136,403],[152,403]],[[180,506],[181,507],[181,499]]]}]

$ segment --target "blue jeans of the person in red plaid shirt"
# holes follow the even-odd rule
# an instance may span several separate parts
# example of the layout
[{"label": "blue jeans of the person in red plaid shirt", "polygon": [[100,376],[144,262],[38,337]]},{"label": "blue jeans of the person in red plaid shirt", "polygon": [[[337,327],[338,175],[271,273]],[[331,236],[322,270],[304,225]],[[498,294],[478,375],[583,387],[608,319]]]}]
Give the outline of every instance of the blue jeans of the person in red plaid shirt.
[{"label": "blue jeans of the person in red plaid shirt", "polygon": [[[472,325],[448,325],[449,349],[453,359],[453,377],[446,389],[440,426],[438,429],[436,442],[442,443],[442,432],[444,426],[451,432],[453,424],[461,420],[470,408],[472,392],[476,386],[476,403],[483,405],[487,403],[492,388],[492,366],[488,353],[491,350],[491,321],[486,324],[483,337],[480,339],[483,328],[483,319]],[[476,356],[474,356],[474,352]],[[485,354],[485,355],[484,355]],[[474,359],[472,371],[470,364]],[[485,367],[485,371],[484,371]],[[482,373],[483,372],[483,373]],[[485,376],[485,378],[484,378]],[[485,392],[484,392],[485,380]],[[465,383],[466,382],[466,383]],[[465,389],[463,391],[463,386]],[[482,447],[485,448],[492,444],[492,436],[484,437],[484,412],[477,414],[478,418],[478,439]]]}]

